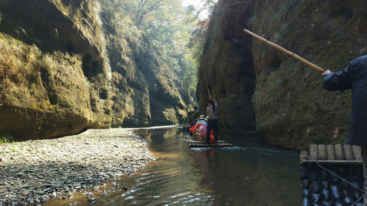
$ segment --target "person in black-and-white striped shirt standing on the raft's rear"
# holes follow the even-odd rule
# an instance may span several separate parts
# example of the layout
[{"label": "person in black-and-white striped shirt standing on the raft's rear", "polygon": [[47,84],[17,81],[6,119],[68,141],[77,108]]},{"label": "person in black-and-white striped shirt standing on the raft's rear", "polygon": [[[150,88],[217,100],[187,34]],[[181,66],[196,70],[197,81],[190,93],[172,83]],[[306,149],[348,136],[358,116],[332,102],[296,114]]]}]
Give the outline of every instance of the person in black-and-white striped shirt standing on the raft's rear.
[{"label": "person in black-and-white striped shirt standing on the raft's rear", "polygon": [[218,103],[214,98],[209,96],[208,107],[207,107],[207,115],[208,117],[208,127],[207,127],[207,135],[205,139],[205,143],[209,144],[210,141],[210,132],[213,129],[214,134],[214,144],[218,144],[218,122],[217,122],[217,109]]}]

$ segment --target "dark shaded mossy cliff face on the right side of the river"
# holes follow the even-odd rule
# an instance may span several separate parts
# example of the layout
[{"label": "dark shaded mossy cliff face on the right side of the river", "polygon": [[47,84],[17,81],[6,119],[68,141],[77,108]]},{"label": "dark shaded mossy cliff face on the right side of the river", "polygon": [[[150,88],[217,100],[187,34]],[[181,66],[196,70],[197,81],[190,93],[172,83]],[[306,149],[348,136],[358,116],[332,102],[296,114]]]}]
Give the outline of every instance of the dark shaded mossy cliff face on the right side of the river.
[{"label": "dark shaded mossy cliff face on the right side of the river", "polygon": [[[242,30],[249,29],[325,70],[339,71],[351,60],[366,55],[366,6],[365,1],[219,1],[204,51],[212,96],[221,99],[228,95],[253,95],[246,104],[241,100],[239,106],[222,105],[221,110],[233,112],[222,114],[226,118],[219,119],[219,125],[228,124],[224,123],[226,119],[240,117],[231,127],[246,131],[253,126],[255,116],[256,129],[274,144],[306,149],[312,143],[344,142],[351,109],[350,91],[325,91],[320,73]],[[216,56],[228,57],[226,63],[218,65]],[[217,67],[211,67],[215,61]],[[244,72],[248,79],[242,80],[239,72]],[[224,79],[227,73],[235,78]],[[237,89],[246,84],[255,89],[227,92],[233,89],[228,87],[231,81],[238,82]],[[207,96],[204,84],[198,85],[200,105],[205,104]],[[221,87],[226,88],[226,93]],[[246,114],[250,110],[255,115]],[[250,123],[237,124],[249,118]]]}]

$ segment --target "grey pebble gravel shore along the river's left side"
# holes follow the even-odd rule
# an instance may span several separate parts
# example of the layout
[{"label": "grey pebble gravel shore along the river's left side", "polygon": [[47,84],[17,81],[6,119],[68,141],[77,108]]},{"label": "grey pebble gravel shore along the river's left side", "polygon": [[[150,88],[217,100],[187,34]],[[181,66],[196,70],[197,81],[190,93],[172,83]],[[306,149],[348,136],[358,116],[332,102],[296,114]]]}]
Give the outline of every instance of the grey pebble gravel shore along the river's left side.
[{"label": "grey pebble gravel shore along the river's left side", "polygon": [[90,129],[0,146],[0,206],[45,203],[132,174],[151,159],[145,140],[131,129]]}]

